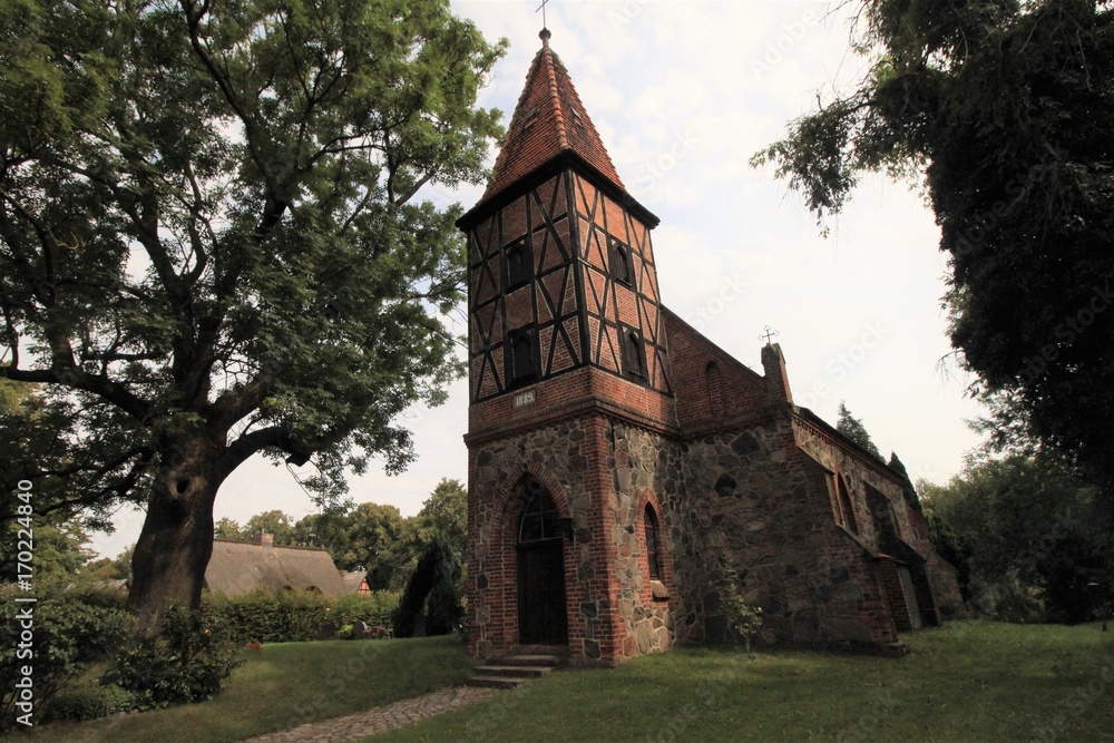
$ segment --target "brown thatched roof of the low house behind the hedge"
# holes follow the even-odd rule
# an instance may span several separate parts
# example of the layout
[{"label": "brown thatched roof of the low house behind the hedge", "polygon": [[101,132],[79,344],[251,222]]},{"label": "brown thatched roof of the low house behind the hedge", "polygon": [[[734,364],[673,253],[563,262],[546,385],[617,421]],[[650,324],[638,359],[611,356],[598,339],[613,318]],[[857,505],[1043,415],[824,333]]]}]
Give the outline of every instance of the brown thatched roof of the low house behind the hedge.
[{"label": "brown thatched roof of the low house behind the hedge", "polygon": [[270,534],[256,535],[252,541],[214,539],[205,587],[226,596],[256,588],[312,590],[325,596],[345,593],[340,570],[328,551],[317,547],[276,547]]}]

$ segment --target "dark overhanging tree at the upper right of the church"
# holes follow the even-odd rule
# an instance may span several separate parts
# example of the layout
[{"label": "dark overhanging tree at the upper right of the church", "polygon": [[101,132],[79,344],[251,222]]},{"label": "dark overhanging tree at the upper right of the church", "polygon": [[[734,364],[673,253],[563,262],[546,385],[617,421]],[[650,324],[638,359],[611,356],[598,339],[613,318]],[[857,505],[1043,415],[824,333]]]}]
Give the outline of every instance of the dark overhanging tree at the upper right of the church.
[{"label": "dark overhanging tree at the upper right of the church", "polygon": [[821,222],[864,172],[924,172],[974,391],[1015,397],[1114,524],[1114,3],[853,7],[869,74],[754,162],[775,163]]}]

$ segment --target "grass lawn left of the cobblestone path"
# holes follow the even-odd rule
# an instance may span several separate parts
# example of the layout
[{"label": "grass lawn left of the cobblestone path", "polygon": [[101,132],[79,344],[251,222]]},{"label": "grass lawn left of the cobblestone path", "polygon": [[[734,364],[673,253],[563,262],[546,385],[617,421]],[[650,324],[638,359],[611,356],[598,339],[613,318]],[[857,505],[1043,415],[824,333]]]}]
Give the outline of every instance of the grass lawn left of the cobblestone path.
[{"label": "grass lawn left of the cobblestone path", "polygon": [[264,645],[215,698],[80,724],[38,726],[14,740],[80,743],[240,741],[460,684],[473,662],[456,637]]}]

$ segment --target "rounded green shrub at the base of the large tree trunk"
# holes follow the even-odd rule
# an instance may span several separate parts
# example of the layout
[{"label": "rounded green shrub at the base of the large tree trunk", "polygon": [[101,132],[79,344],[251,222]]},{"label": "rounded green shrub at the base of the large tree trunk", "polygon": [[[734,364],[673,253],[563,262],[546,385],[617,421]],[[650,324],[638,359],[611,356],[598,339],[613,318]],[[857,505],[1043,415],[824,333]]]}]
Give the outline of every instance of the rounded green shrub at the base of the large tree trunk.
[{"label": "rounded green shrub at the base of the large tree trunk", "polygon": [[219,617],[174,606],[157,635],[124,643],[101,681],[128,691],[140,708],[199,702],[244,662],[238,646]]}]

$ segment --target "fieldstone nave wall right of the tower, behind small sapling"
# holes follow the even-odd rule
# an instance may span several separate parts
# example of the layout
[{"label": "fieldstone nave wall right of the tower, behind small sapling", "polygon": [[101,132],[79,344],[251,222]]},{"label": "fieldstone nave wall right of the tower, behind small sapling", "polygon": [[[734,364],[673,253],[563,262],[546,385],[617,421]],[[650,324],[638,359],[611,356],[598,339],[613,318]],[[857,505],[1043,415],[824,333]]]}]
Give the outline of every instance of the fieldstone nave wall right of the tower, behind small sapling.
[{"label": "fieldstone nave wall right of the tower, behind small sapling", "polygon": [[714,584],[725,567],[763,610],[768,643],[896,639],[861,545],[836,525],[827,477],[797,448],[789,418],[687,443],[688,493],[677,573],[690,577],[685,638],[720,639]]}]

